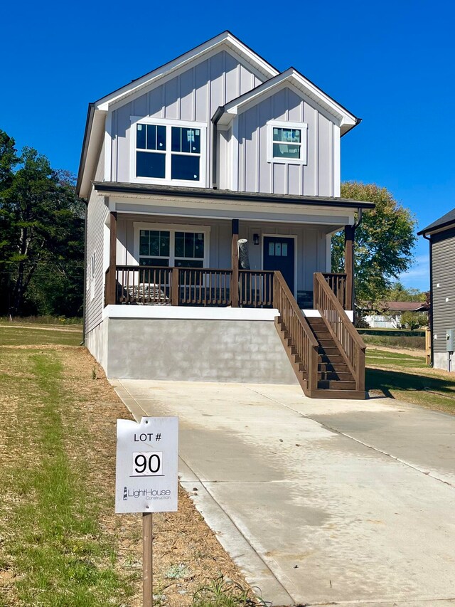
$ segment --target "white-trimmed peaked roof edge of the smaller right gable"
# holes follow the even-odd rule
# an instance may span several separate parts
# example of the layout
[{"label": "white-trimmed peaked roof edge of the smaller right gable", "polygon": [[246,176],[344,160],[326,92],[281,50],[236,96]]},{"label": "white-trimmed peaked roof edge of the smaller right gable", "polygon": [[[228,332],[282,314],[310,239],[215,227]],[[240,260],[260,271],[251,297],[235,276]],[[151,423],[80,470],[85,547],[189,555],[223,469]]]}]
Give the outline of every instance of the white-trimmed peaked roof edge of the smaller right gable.
[{"label": "white-trimmed peaked roof edge of the smaller right gable", "polygon": [[304,93],[306,97],[309,97],[316,105],[337,120],[341,127],[341,135],[346,134],[360,122],[360,118],[355,117],[355,115],[346,110],[346,107],[343,107],[343,105],[336,102],[327,93],[324,93],[323,90],[312,83],[311,80],[305,78],[295,68],[288,68],[284,72],[258,85],[256,88],[226,103],[223,107],[218,107],[215,115],[213,115],[213,122],[220,125],[228,125],[232,117],[242,112],[246,107],[255,105],[255,102],[259,102],[264,95],[273,94],[275,90],[279,90],[286,83],[294,85],[294,88]]}]

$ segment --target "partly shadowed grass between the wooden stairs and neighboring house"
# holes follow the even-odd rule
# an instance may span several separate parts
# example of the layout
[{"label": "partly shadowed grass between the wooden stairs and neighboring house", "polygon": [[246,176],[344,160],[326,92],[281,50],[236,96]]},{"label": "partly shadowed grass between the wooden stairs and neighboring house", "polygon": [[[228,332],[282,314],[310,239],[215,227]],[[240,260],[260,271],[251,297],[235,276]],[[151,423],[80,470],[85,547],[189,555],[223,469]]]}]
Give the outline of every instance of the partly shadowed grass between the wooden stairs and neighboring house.
[{"label": "partly shadowed grass between the wooden stairs and neighboring house", "polygon": [[367,349],[366,366],[368,390],[455,413],[455,374],[431,369],[423,356]]}]

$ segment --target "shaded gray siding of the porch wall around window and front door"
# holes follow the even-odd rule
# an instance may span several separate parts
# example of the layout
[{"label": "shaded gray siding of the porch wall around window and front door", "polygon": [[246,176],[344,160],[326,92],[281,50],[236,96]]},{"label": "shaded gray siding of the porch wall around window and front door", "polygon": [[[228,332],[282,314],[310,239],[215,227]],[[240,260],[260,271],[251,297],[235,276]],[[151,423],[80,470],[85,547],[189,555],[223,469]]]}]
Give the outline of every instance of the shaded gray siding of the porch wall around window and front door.
[{"label": "shaded gray siding of the porch wall around window and front door", "polygon": [[[189,219],[151,217],[143,215],[119,216],[117,221],[117,264],[134,265],[134,222],[173,223],[178,225],[210,226],[210,268],[231,267],[231,225],[230,221],[217,219]],[[259,234],[259,245],[253,245],[253,234]],[[291,225],[289,223],[249,223],[240,222],[239,236],[247,238],[252,270],[262,268],[262,235],[280,234],[296,236],[297,290],[313,290],[313,273],[326,272],[327,248],[326,232],[323,228]]]}]

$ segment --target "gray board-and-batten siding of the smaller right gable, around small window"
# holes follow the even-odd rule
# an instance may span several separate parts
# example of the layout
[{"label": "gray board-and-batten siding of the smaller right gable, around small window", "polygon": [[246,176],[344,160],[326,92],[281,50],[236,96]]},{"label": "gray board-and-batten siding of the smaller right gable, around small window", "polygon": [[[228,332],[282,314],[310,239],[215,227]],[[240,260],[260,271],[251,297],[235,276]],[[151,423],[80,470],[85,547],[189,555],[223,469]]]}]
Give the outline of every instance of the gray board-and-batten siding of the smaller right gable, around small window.
[{"label": "gray board-and-batten siding of the smaller right gable, around small window", "polygon": [[[240,191],[308,196],[339,196],[339,128],[294,90],[284,88],[238,118],[238,189]],[[267,122],[306,122],[308,142],[306,165],[267,162]],[[229,136],[229,135],[228,135]],[[232,143],[235,139],[232,139]],[[220,147],[220,166],[227,163],[228,145]],[[224,154],[224,156],[223,156]],[[220,188],[229,187],[226,171],[220,171]]]}]

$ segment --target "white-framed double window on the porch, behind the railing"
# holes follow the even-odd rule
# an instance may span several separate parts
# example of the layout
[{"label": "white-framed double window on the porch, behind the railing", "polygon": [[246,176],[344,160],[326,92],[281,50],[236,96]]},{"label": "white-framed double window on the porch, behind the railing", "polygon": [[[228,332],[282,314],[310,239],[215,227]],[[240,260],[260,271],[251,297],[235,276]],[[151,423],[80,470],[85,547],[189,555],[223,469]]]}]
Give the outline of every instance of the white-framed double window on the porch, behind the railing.
[{"label": "white-framed double window on the porch, behind the railing", "polygon": [[134,258],[161,268],[208,268],[210,228],[134,223]]}]

